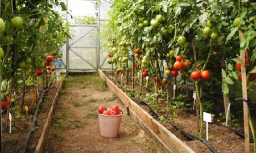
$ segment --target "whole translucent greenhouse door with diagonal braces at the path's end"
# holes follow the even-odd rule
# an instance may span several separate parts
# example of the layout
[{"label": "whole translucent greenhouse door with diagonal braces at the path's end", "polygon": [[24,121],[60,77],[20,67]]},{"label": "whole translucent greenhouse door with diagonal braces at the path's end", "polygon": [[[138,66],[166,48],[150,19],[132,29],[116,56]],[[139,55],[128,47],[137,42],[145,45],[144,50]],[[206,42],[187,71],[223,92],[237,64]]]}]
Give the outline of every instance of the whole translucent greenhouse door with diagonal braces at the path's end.
[{"label": "whole translucent greenhouse door with diagonal braces at the path's end", "polygon": [[71,25],[67,42],[68,72],[97,71],[97,25]]}]

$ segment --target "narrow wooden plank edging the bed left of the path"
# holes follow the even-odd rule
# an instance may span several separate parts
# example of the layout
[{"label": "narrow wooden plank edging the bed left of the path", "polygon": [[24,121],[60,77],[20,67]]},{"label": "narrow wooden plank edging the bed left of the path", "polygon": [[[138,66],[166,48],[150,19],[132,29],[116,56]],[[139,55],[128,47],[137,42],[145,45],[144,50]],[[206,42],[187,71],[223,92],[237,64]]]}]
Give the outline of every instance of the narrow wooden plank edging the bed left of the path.
[{"label": "narrow wooden plank edging the bed left of the path", "polygon": [[51,105],[51,108],[49,109],[46,122],[44,123],[44,128],[43,128],[43,131],[40,135],[38,145],[36,145],[36,148],[35,148],[35,153],[44,152],[44,145],[46,144],[47,133],[48,133],[48,130],[49,130],[49,126],[51,125],[51,122],[52,122],[52,115],[53,115],[53,112],[54,112],[54,109],[55,109],[56,101],[57,101],[57,98],[60,95],[60,91],[61,91],[62,87],[63,87],[63,81],[60,82],[59,88],[57,89],[55,97],[52,101],[52,105]]}]

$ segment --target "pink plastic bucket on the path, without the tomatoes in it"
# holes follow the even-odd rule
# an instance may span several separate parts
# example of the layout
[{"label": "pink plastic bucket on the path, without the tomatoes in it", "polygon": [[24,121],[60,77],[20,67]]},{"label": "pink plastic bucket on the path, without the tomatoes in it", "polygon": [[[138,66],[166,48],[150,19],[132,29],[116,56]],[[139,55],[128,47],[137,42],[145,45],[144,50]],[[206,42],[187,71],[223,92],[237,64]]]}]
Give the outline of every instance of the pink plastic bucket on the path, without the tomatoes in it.
[{"label": "pink plastic bucket on the path, without the tomatoes in it", "polygon": [[119,133],[122,113],[116,116],[109,116],[105,114],[98,114],[100,122],[100,133],[102,137],[114,138]]}]

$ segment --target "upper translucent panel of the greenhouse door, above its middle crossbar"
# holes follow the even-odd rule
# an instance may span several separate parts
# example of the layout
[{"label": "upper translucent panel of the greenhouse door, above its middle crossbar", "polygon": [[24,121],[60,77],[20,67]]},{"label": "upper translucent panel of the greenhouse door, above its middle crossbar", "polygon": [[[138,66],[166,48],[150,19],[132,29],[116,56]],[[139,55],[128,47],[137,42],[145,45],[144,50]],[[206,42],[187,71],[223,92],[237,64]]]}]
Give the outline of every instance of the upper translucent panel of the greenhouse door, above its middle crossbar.
[{"label": "upper translucent panel of the greenhouse door, above its middle crossbar", "polygon": [[97,48],[97,27],[72,26],[70,27],[72,39],[69,39],[71,48]]}]

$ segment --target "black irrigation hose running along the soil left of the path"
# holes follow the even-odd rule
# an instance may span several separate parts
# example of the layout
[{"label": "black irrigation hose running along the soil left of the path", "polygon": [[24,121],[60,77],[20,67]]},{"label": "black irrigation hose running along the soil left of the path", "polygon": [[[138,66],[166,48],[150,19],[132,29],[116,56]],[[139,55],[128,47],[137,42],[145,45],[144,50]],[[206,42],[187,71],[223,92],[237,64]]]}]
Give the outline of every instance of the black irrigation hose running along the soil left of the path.
[{"label": "black irrigation hose running along the soil left of the path", "polygon": [[43,101],[44,94],[46,94],[46,92],[49,90],[49,86],[51,85],[51,83],[52,83],[52,81],[48,83],[48,88],[42,92],[42,94],[40,95],[39,103],[36,104],[36,110],[35,110],[35,113],[34,113],[34,116],[33,116],[32,126],[31,126],[31,129],[30,129],[30,132],[28,133],[28,135],[25,139],[24,145],[22,146],[22,150],[20,150],[20,152],[22,152],[22,153],[26,152],[27,143],[30,140],[30,136],[31,136],[32,132],[35,130],[35,123],[36,123],[36,118],[38,117],[40,104]]}]

